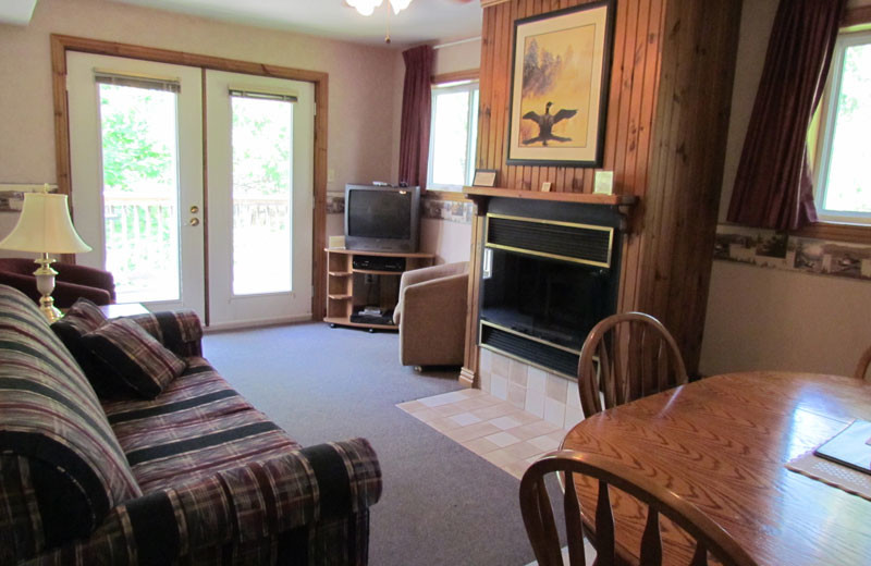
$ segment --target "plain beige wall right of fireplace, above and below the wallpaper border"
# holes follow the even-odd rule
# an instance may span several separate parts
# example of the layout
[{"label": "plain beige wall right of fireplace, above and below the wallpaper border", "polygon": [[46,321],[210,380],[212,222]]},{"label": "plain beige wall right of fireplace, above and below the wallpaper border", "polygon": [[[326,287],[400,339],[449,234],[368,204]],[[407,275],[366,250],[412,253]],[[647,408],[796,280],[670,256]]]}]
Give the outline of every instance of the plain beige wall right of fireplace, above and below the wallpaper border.
[{"label": "plain beige wall right of fireplace, above and below the wallpaper border", "polygon": [[[854,0],[849,5],[871,4]],[[725,218],[777,0],[744,2],[721,220]],[[871,344],[871,284],[714,261],[700,371],[850,374]]]}]

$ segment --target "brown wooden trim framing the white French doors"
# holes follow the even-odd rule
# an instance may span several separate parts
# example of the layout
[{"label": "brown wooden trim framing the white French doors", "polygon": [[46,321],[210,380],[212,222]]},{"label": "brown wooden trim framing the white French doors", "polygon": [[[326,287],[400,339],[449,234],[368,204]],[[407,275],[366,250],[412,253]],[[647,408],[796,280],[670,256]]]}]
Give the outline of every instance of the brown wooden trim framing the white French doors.
[{"label": "brown wooden trim framing the white French doors", "polygon": [[[54,103],[54,153],[58,175],[58,192],[72,193],[70,163],[70,108],[66,100],[66,52],[78,51],[102,56],[125,57],[158,63],[194,66],[213,71],[228,71],[258,76],[271,76],[290,81],[303,81],[315,85],[315,212],[311,235],[311,318],[321,320],[326,308],[324,251],[327,233],[327,116],[329,98],[329,74],[320,71],[289,66],[253,63],[235,59],[186,53],[169,49],[142,47],[114,41],[101,41],[59,34],[51,34],[51,76]],[[204,184],[206,179],[204,179]],[[204,196],[208,190],[204,190]],[[205,206],[205,205],[204,205]],[[71,201],[72,208],[72,201]],[[74,257],[64,256],[64,261]]]}]

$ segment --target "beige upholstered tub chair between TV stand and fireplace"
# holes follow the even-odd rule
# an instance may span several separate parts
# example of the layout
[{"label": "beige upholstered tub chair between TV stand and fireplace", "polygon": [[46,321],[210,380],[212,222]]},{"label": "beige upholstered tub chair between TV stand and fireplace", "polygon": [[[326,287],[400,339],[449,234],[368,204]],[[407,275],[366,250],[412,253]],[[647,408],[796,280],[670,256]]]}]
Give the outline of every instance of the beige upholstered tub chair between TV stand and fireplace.
[{"label": "beige upholstered tub chair between TV stand and fireplace", "polygon": [[402,274],[393,322],[403,366],[461,366],[466,347],[468,261]]}]

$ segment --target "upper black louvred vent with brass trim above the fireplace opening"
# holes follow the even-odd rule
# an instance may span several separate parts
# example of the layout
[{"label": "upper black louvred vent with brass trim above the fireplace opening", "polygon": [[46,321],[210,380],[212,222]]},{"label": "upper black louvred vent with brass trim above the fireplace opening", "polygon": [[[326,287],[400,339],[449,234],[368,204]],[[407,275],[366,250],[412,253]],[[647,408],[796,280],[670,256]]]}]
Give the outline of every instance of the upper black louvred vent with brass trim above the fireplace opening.
[{"label": "upper black louvred vent with brass trim above the fireplace opening", "polygon": [[487,247],[611,267],[614,229],[523,217],[487,214]]}]

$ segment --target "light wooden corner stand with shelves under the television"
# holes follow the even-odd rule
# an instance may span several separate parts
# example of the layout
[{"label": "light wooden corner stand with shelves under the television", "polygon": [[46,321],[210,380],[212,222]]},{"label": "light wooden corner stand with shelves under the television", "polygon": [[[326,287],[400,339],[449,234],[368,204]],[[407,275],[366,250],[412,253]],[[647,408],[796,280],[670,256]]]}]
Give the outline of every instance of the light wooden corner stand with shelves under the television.
[{"label": "light wooden corner stand with shelves under the television", "polygon": [[[327,316],[331,327],[397,330],[393,309],[405,271],[432,264],[433,254],[326,248]],[[383,269],[378,269],[383,268]]]}]

